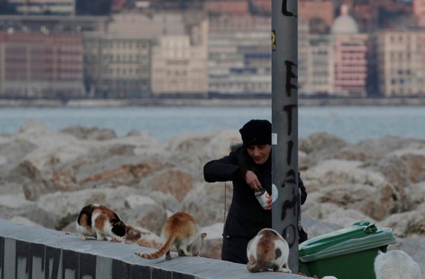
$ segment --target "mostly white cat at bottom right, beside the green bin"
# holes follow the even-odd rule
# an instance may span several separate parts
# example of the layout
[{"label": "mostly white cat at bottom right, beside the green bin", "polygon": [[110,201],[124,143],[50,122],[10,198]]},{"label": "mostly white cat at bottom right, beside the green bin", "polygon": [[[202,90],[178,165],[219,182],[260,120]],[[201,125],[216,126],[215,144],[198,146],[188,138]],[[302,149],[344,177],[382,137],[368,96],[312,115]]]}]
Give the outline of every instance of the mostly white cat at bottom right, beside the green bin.
[{"label": "mostly white cat at bottom right, beside the green bin", "polygon": [[374,269],[376,279],[421,279],[419,265],[401,250],[378,251]]}]

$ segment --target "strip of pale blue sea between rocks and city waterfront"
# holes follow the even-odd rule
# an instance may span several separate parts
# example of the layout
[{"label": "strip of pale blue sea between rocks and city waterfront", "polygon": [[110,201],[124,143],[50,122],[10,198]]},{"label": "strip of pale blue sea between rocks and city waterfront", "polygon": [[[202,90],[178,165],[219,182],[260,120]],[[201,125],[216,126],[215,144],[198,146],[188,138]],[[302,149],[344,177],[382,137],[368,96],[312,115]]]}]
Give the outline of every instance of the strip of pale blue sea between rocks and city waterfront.
[{"label": "strip of pale blue sea between rocks and city waterfront", "polygon": [[[270,107],[90,107],[0,108],[0,134],[19,131],[27,119],[53,130],[80,125],[110,128],[123,136],[131,130],[164,142],[179,133],[239,129],[250,119],[271,120]],[[394,135],[425,140],[425,107],[299,107],[298,137],[326,132],[349,143]]]}]

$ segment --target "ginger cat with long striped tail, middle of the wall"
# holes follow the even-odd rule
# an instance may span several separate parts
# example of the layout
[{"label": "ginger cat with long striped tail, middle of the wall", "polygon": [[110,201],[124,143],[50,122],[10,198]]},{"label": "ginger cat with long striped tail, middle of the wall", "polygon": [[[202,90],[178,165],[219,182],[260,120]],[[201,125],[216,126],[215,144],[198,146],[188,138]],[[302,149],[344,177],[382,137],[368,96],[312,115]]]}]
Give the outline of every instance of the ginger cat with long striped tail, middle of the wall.
[{"label": "ginger cat with long striped tail, middle of the wall", "polygon": [[171,259],[171,246],[175,246],[179,256],[197,256],[203,248],[203,239],[206,233],[199,232],[196,220],[184,212],[174,213],[168,217],[161,229],[161,239],[164,243],[156,252],[134,252],[139,257],[158,259],[166,254],[166,259]]}]

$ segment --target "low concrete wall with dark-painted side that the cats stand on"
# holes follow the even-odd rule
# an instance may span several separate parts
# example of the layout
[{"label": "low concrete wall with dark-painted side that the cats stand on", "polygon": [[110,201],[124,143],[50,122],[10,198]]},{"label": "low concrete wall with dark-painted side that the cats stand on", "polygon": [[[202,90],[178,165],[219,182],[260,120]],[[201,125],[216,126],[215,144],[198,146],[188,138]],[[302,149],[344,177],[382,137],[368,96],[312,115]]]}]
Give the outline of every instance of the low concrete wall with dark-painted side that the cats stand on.
[{"label": "low concrete wall with dark-painted side that the cats stand on", "polygon": [[[208,237],[208,236],[207,236]],[[143,259],[152,249],[89,239],[0,220],[1,279],[305,279],[279,272],[250,273],[245,264],[203,257]]]}]

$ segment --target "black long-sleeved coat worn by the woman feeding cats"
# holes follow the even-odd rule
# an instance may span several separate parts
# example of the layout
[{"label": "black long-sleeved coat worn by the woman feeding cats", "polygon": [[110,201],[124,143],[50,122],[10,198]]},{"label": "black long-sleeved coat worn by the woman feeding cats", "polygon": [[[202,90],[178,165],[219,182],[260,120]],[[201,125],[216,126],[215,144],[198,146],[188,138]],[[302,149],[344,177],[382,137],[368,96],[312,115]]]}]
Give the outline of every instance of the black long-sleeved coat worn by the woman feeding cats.
[{"label": "black long-sleeved coat worn by the woman feeding cats", "polygon": [[[245,182],[247,170],[257,174],[261,186],[271,194],[271,156],[264,165],[256,165],[247,155],[245,147],[239,146],[228,156],[212,160],[203,167],[203,176],[207,182],[233,181],[233,198],[224,224],[225,239],[244,238],[249,241],[261,229],[272,225],[271,210],[264,210],[261,207],[254,196],[254,190]],[[301,189],[301,204],[303,204],[307,193],[301,179],[298,179],[298,187]],[[224,241],[223,246],[226,242]],[[246,257],[246,246],[241,251]]]}]

